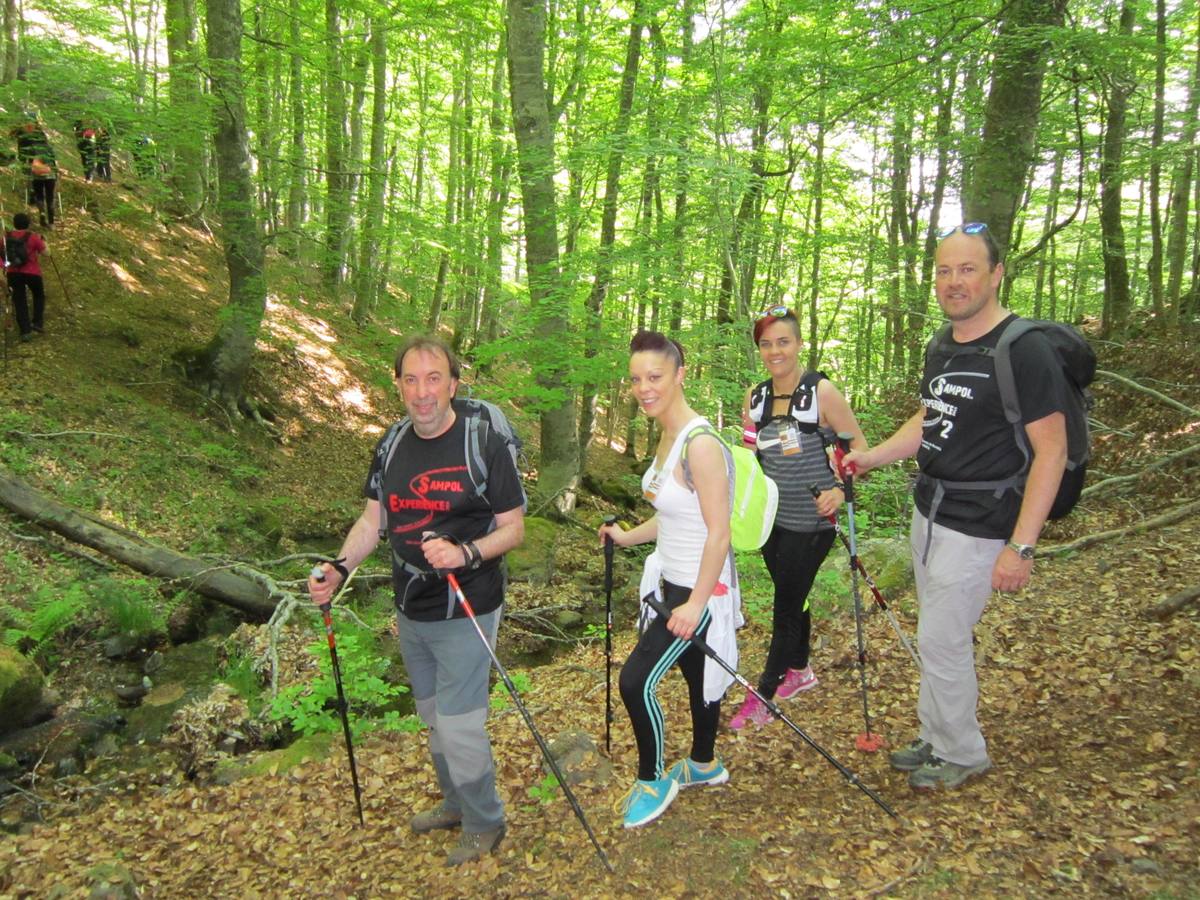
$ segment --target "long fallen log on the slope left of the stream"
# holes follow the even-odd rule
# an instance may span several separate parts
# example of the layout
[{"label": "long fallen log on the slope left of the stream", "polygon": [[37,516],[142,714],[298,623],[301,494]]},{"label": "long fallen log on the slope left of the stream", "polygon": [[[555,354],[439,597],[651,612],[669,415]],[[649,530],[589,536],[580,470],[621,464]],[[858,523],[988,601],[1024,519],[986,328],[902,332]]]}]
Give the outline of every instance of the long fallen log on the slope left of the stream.
[{"label": "long fallen log on the slope left of the stream", "polygon": [[191,590],[228,604],[256,619],[265,620],[275,611],[276,599],[265,583],[240,575],[228,566],[193,559],[152,544],[120,526],[109,526],[90,514],[35,491],[6,472],[0,472],[0,505],[131,569],[156,578],[180,582]]}]

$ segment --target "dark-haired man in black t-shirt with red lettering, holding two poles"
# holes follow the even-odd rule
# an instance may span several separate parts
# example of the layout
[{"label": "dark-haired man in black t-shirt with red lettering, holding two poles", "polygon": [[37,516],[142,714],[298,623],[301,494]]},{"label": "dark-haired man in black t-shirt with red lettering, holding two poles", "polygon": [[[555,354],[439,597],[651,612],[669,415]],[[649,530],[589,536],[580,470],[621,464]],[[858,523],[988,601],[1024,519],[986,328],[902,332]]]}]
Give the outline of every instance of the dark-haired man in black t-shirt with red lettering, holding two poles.
[{"label": "dark-haired man in black t-shirt with red lettering, holding two poles", "polygon": [[[462,826],[448,865],[491,853],[505,823],[486,728],[491,659],[439,571],[457,575],[494,646],[504,604],[503,556],[524,539],[516,463],[498,430],[456,412],[458,372],[454,352],[437,338],[410,337],[400,348],[395,378],[407,419],[377,446],[364,487],[366,506],[338,562],[325,564],[323,582],[308,581],[313,602],[328,602],[378,545],[384,523],[400,649],[416,712],[430,728],[443,797],[410,826],[419,834]],[[391,452],[380,452],[388,442],[394,442]],[[480,463],[486,466],[482,481],[475,478]]]}]

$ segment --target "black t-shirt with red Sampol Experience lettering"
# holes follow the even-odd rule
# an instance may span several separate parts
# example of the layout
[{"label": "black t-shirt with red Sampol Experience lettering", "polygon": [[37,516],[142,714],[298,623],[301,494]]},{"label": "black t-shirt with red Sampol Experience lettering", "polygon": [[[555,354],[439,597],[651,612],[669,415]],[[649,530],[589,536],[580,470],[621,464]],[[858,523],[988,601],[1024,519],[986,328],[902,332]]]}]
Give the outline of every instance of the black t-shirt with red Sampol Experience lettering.
[{"label": "black t-shirt with red Sampol Experience lettering", "polygon": [[[445,578],[430,571],[421,553],[426,532],[449,534],[460,542],[479,540],[492,529],[496,512],[518,509],[524,502],[521,476],[504,439],[480,424],[482,455],[487,462],[487,490],[478,496],[467,468],[467,428],[463,416],[436,438],[422,438],[408,428],[398,440],[384,481],[388,544],[396,606],[408,618],[421,622],[461,618]],[[374,499],[371,482],[378,467],[372,455],[364,496]],[[430,572],[418,577],[403,563]],[[486,559],[479,569],[455,571],[463,593],[476,613],[492,612],[504,602],[504,572],[499,559]]]}]

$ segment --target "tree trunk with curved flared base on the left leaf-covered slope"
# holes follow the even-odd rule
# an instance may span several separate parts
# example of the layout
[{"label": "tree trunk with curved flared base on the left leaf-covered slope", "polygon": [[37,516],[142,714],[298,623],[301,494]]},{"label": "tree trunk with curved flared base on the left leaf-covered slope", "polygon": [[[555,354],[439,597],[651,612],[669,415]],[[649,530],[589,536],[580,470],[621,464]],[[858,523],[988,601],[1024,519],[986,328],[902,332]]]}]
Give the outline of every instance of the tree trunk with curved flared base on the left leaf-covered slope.
[{"label": "tree trunk with curved flared base on the left leaf-covered slope", "polygon": [[217,162],[217,214],[229,269],[229,302],[203,354],[200,377],[227,409],[245,402],[254,338],[266,310],[263,241],[254,210],[241,70],[242,18],[239,0],[209,0],[209,80],[212,86],[212,143]]}]

